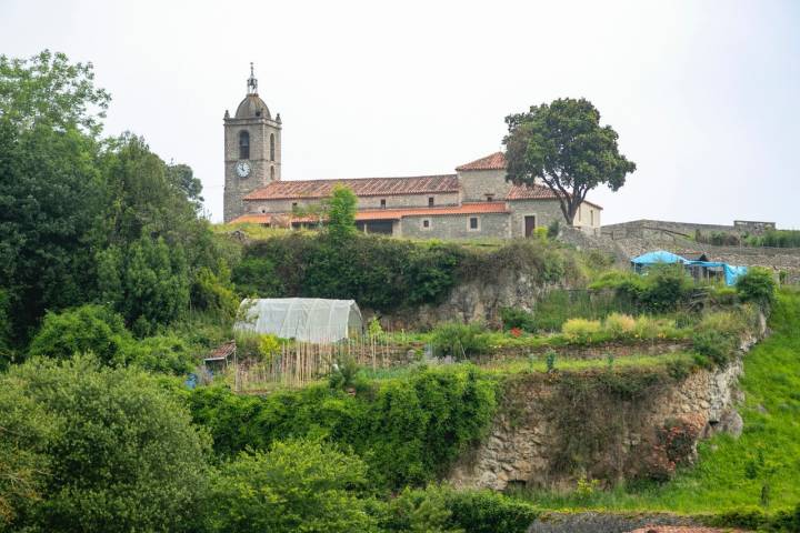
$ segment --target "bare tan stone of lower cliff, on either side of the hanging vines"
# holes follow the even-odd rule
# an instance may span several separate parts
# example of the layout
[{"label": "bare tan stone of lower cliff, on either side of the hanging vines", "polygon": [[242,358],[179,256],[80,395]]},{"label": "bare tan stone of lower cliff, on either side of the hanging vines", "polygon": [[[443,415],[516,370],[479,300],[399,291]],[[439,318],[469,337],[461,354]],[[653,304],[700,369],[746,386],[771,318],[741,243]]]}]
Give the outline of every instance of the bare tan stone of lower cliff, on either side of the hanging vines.
[{"label": "bare tan stone of lower cliff, on either side of the hanging vines", "polygon": [[[742,349],[749,349],[764,331],[762,320],[761,331],[744,341]],[[636,401],[619,399],[617,405],[604,406],[597,415],[601,421],[607,418],[610,425],[618,424],[618,433],[600,451],[597,463],[617,464],[620,475],[636,476],[647,467],[648,436],[673,420],[696,423],[701,428],[698,438],[719,431],[738,436],[742,421],[734,408],[741,400],[737,388],[741,372],[739,356],[724,369],[696,370],[680,382],[653,389],[651,395]],[[498,491],[510,484],[574,486],[576,473],[557,464],[563,438],[558,433],[558,411],[573,409],[553,405],[557,386],[558,376],[550,374],[528,374],[508,382],[489,436],[457,462],[449,480],[460,487]]]}]

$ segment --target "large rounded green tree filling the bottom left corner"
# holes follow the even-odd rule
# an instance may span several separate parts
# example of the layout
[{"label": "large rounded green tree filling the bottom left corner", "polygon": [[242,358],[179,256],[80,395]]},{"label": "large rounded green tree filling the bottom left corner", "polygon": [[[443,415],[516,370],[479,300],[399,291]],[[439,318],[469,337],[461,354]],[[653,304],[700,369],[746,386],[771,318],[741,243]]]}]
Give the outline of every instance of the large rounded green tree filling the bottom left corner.
[{"label": "large rounded green tree filling the bottom left corner", "polygon": [[[41,501],[20,515],[19,529],[198,531],[208,439],[152,378],[86,356],[36,359],[0,378],[7,389],[14,392],[0,412],[31,402],[50,430],[26,447],[47,461]],[[0,436],[0,445],[9,442]]]}]

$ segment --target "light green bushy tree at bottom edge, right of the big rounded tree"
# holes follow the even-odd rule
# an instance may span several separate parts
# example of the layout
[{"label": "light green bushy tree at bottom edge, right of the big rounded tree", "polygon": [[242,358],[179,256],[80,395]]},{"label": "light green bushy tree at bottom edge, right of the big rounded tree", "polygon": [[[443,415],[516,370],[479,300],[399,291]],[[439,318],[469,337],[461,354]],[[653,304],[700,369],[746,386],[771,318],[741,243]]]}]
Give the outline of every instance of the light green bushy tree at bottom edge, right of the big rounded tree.
[{"label": "light green bushy tree at bottom edge, right of the big rounded tree", "polygon": [[358,490],[366,465],[319,441],[243,452],[212,482],[209,529],[219,533],[374,531]]}]

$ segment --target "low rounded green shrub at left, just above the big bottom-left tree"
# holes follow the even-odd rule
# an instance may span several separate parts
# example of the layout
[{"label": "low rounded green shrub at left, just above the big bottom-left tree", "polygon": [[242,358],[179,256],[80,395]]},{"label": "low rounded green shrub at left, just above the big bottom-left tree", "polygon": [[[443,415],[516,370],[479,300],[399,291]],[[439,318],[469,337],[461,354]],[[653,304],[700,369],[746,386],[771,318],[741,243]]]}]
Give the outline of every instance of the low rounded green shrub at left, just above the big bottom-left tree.
[{"label": "low rounded green shrub at left, just above the big bottom-left tree", "polygon": [[54,359],[92,352],[104,363],[111,363],[130,341],[122,316],[103,305],[87,304],[48,313],[29,352]]}]

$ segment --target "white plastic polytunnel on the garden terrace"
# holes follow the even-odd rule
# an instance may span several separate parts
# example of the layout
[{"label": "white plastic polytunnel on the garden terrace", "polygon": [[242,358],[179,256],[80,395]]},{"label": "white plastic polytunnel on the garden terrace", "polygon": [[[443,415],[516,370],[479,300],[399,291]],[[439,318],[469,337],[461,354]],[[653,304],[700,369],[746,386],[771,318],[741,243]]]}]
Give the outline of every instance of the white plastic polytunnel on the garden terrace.
[{"label": "white plastic polytunnel on the garden terrace", "polygon": [[262,298],[243,300],[238,331],[272,334],[307,342],[336,342],[361,333],[361,311],[354,300]]}]

